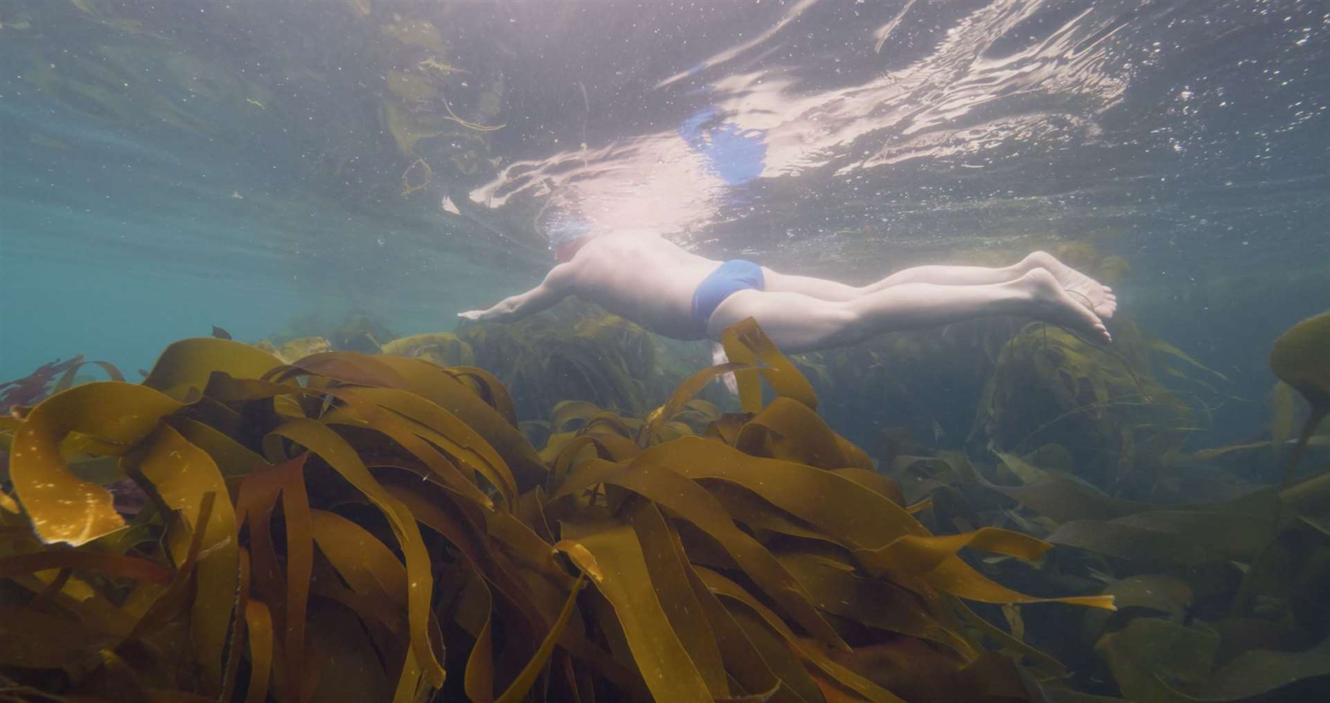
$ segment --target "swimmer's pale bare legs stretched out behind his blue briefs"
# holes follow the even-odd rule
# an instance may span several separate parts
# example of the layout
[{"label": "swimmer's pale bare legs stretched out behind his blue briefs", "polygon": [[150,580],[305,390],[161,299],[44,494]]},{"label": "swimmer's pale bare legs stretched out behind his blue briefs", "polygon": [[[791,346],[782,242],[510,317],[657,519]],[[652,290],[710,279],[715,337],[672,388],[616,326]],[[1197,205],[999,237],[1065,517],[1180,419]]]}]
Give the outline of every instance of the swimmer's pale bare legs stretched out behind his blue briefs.
[{"label": "swimmer's pale bare legs stretched out behind his blue briefs", "polygon": [[1044,268],[1005,283],[939,286],[900,283],[851,300],[823,300],[786,291],[738,291],[716,308],[712,339],[745,318],[789,353],[842,347],[896,330],[950,324],[984,315],[1028,315],[1111,342],[1104,323],[1067,294]]}]

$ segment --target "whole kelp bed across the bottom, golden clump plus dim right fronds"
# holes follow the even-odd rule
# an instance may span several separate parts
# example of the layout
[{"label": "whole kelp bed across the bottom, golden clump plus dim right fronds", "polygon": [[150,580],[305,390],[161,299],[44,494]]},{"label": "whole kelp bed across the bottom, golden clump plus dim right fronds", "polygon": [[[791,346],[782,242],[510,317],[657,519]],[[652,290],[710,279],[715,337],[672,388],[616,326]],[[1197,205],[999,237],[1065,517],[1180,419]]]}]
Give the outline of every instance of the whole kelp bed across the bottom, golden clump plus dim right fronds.
[{"label": "whole kelp bed across the bottom, golden clump plus dim right fronds", "polygon": [[[634,348],[632,328],[589,319],[580,335]],[[1271,352],[1311,404],[1310,445],[1325,319]],[[870,457],[751,320],[726,331],[730,363],[658,407],[556,403],[532,444],[509,388],[464,363],[496,330],[289,361],[188,339],[141,384],[112,373],[16,407],[0,420],[0,699],[1326,694],[1322,458],[1282,488],[1165,504],[1096,488],[1052,436],[968,456],[900,439]],[[1031,350],[1061,356],[1021,368],[1069,359],[1048,384],[1081,400],[1170,397],[1140,360],[1136,379],[1107,361],[1100,379],[1052,328],[999,357]],[[609,363],[642,377],[628,365],[648,361]],[[738,412],[697,397],[726,372]],[[1273,464],[1286,437],[1185,457],[1145,440],[1137,460],[1177,454],[1154,456],[1166,473],[1233,452]],[[146,500],[114,501],[125,482]]]}]

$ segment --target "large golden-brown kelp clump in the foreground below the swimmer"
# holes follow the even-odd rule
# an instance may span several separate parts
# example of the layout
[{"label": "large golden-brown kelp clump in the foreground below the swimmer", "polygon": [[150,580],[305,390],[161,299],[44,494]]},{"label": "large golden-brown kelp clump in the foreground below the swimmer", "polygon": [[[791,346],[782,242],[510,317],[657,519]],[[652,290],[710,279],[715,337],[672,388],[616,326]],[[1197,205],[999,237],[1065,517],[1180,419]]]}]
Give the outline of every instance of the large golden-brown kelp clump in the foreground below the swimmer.
[{"label": "large golden-brown kelp clump in the foreground below the swimmer", "polygon": [[[636,339],[605,319],[580,334]],[[971,553],[1039,561],[1051,545],[928,530],[751,320],[726,332],[732,364],[645,420],[555,405],[543,452],[495,376],[428,359],[466,360],[454,338],[399,342],[406,356],[283,363],[190,339],[140,385],[90,383],[32,408],[0,493],[5,686],[255,702],[1023,699],[1020,667],[1065,670],[963,599],[1112,607],[984,575]],[[730,371],[746,412],[693,397]],[[126,478],[148,496],[132,516],[106,489]]]}]

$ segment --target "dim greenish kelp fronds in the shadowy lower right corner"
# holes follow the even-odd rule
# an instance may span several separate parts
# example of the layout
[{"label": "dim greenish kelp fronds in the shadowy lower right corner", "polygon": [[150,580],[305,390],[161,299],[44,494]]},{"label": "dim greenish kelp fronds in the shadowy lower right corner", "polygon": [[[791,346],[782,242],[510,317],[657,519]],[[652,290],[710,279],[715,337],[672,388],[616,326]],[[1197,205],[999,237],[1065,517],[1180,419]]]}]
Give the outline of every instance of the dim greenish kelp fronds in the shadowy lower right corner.
[{"label": "dim greenish kelp fronds in the shadowy lower right corner", "polygon": [[[1016,454],[998,458],[999,466],[988,468],[954,452],[899,457],[888,474],[928,496],[919,514],[939,533],[1009,526],[1064,548],[1037,570],[1008,563],[1004,573],[1027,589],[1097,583],[1099,593],[1115,597],[1115,613],[1025,619],[1051,651],[1073,659],[1093,654],[1128,700],[1323,694],[1317,682],[1330,675],[1330,477],[1222,502],[1164,505],[1108,496]],[[984,561],[999,566],[1001,558]],[[1003,615],[1009,635],[970,622],[1008,649],[1021,621]]]}]

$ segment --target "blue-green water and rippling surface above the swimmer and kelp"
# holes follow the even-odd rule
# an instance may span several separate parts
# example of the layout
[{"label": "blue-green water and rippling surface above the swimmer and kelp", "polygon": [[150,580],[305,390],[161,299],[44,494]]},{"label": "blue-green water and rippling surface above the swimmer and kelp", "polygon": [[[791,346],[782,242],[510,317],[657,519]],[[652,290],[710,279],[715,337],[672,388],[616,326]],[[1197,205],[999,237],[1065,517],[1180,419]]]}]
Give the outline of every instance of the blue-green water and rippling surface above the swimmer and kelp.
[{"label": "blue-green water and rippling surface above the swimmer and kelp", "polygon": [[448,330],[539,280],[555,198],[850,282],[1092,242],[1241,435],[1330,303],[1327,65],[1293,0],[8,0],[0,377],[310,311]]}]

